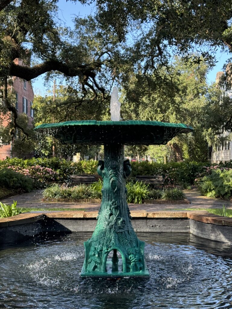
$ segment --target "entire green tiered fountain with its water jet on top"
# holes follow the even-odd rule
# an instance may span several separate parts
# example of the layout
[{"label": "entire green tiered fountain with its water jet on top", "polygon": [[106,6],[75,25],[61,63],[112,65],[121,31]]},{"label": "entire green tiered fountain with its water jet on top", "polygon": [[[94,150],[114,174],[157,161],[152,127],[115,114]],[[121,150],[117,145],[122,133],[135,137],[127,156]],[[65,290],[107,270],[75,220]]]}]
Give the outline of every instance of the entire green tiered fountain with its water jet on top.
[{"label": "entire green tiered fountain with its water jet on top", "polygon": [[[113,95],[111,110],[119,115],[117,104],[118,99]],[[131,173],[131,165],[129,160],[124,160],[124,145],[166,144],[177,134],[189,133],[193,129],[181,123],[115,121],[115,112],[112,113],[113,121],[66,121],[42,124],[35,130],[45,131],[63,144],[104,145],[104,161],[100,160],[97,167],[103,179],[101,207],[95,231],[84,243],[85,260],[81,276],[147,277],[145,243],[135,234],[127,205],[126,178]],[[113,252],[112,258],[108,258],[110,252]],[[122,264],[121,272],[119,264]]]}]

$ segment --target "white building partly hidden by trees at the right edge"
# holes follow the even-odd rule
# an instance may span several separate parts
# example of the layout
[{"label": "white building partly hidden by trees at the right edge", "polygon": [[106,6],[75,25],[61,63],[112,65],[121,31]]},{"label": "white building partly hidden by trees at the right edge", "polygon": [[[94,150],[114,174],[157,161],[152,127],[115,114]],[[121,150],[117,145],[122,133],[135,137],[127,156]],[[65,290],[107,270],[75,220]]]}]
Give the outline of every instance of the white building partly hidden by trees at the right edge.
[{"label": "white building partly hidden by trees at the right edge", "polygon": [[[220,77],[224,75],[224,72],[217,72],[216,83],[219,82]],[[229,96],[232,99],[232,88],[228,91],[223,90],[223,96]],[[225,137],[229,134],[228,131],[224,132],[221,136]],[[212,149],[211,162],[219,163],[220,161],[232,160],[232,141],[227,141],[224,144],[219,143],[216,145],[216,149]]]}]

